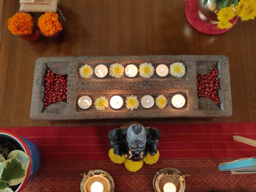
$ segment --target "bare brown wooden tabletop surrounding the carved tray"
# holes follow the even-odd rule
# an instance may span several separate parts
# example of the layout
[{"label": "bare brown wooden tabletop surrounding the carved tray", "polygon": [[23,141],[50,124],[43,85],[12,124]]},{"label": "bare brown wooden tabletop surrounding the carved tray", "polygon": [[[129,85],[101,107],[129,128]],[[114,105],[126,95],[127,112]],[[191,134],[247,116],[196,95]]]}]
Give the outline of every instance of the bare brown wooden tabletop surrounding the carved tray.
[{"label": "bare brown wooden tabletop surrounding the carved tray", "polygon": [[[238,21],[228,33],[209,36],[194,30],[180,0],[61,0],[67,21],[62,39],[29,43],[8,31],[18,0],[0,0],[0,127],[120,125],[141,123],[256,122],[256,19]],[[34,121],[30,119],[35,60],[50,56],[226,55],[229,58],[233,115],[228,118],[110,119]]]}]

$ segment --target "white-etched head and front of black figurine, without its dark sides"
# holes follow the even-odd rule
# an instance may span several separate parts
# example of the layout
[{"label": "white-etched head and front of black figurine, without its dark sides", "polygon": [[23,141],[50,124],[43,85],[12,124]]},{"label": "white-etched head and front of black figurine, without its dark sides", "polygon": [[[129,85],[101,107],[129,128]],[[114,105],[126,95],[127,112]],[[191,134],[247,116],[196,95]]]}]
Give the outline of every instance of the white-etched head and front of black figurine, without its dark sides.
[{"label": "white-etched head and front of black figurine, without its dark sides", "polygon": [[144,158],[146,147],[146,131],[139,124],[131,125],[127,129],[126,145],[128,150],[127,158],[133,161],[140,161]]}]

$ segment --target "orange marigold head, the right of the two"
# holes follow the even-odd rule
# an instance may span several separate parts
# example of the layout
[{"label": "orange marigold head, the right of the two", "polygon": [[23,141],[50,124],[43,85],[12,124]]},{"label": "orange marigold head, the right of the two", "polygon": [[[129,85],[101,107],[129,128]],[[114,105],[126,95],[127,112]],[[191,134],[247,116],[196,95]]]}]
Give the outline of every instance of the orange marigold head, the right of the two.
[{"label": "orange marigold head, the right of the two", "polygon": [[38,18],[38,27],[45,36],[52,36],[62,30],[59,16],[55,12],[45,12]]}]

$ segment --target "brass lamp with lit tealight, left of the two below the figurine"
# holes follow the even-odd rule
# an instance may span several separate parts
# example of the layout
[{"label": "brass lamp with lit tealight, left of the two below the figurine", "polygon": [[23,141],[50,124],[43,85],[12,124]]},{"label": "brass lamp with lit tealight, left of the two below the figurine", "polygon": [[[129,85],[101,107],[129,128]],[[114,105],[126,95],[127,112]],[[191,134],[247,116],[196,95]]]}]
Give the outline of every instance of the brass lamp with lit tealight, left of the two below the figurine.
[{"label": "brass lamp with lit tealight, left of the two below the figurine", "polygon": [[113,192],[115,189],[114,180],[111,175],[101,169],[89,170],[83,176],[80,184],[81,192]]}]

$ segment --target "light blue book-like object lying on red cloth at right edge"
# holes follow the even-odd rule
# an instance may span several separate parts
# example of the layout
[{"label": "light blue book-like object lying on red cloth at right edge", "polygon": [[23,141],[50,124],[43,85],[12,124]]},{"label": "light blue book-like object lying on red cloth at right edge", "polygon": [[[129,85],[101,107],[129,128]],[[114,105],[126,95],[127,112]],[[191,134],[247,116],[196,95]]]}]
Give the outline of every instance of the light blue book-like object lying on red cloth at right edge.
[{"label": "light blue book-like object lying on red cloth at right edge", "polygon": [[256,157],[238,159],[231,162],[220,163],[220,171],[256,172]]}]

